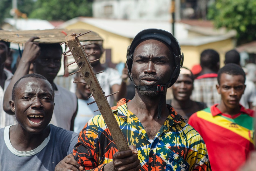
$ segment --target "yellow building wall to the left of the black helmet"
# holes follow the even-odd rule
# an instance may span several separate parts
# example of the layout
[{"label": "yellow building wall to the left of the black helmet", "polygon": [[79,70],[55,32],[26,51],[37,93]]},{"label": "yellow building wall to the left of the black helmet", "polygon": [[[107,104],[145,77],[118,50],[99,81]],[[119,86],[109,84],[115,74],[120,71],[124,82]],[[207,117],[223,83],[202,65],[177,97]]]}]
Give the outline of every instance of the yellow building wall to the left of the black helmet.
[{"label": "yellow building wall to the left of the black helmet", "polygon": [[[126,62],[126,51],[132,40],[117,34],[110,33],[84,22],[77,22],[66,27],[67,29],[83,28],[98,33],[103,38],[103,48],[111,49],[112,63]],[[101,63],[105,62],[105,53]]]}]

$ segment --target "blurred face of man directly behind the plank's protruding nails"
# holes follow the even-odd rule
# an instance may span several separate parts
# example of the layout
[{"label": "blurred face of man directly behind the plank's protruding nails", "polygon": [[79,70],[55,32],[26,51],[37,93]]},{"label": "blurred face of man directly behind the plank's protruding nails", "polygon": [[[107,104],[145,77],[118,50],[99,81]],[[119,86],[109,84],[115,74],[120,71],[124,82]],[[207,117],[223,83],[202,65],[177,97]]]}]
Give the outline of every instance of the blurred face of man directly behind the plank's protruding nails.
[{"label": "blurred face of man directly behind the plank's protruding nails", "polygon": [[[91,54],[92,52],[95,52],[94,54],[88,56],[89,60],[90,61],[93,61],[93,60],[96,60],[96,59],[99,59],[101,58],[101,55],[102,55],[102,49],[100,48],[100,45],[98,44],[91,44],[91,45],[87,45],[84,47],[85,49],[85,53],[88,55],[88,54]],[[93,62],[91,63],[92,66],[95,66],[97,64],[99,64],[100,62],[99,61],[96,61],[96,62]]]}]

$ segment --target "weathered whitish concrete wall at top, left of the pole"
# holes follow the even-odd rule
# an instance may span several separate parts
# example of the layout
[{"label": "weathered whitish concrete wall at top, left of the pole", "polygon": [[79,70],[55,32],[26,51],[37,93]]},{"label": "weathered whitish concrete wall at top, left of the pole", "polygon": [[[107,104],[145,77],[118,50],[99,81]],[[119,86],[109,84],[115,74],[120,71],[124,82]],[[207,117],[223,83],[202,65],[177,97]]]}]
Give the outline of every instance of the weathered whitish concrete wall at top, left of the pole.
[{"label": "weathered whitish concrete wall at top, left of the pole", "polygon": [[92,11],[96,18],[168,21],[170,5],[170,0],[95,0]]}]

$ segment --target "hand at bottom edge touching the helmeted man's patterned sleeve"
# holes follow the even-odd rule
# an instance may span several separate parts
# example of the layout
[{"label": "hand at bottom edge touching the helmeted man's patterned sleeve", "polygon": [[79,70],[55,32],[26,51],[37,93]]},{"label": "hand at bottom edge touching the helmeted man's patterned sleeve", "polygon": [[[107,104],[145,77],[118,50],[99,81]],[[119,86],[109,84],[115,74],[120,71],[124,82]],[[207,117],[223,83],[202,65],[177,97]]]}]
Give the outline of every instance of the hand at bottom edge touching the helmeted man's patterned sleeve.
[{"label": "hand at bottom edge touching the helmeted man's patterned sleeve", "polygon": [[67,155],[62,161],[60,161],[55,167],[54,171],[80,171],[83,167],[75,161],[72,154]]}]

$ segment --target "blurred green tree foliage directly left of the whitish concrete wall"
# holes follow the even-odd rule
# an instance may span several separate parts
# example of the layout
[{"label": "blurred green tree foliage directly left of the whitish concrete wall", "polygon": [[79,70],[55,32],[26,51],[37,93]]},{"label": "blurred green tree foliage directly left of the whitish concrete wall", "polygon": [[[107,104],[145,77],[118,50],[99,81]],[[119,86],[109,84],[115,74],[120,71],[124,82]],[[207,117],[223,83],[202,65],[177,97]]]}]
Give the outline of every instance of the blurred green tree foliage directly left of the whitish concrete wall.
[{"label": "blurred green tree foliage directly left of the whitish concrete wall", "polygon": [[91,0],[37,0],[30,18],[69,20],[78,16],[92,16]]}]

